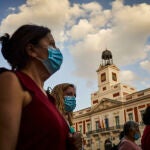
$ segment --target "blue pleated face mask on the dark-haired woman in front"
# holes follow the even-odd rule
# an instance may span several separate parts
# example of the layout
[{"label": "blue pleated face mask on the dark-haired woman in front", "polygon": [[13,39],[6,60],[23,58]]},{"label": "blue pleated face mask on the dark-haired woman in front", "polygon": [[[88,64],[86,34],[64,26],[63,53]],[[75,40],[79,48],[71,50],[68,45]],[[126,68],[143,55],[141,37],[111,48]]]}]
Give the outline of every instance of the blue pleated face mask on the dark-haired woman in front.
[{"label": "blue pleated face mask on the dark-haired woman in front", "polygon": [[60,69],[63,62],[63,55],[60,50],[53,47],[48,47],[48,58],[41,61],[48,72],[53,74]]}]

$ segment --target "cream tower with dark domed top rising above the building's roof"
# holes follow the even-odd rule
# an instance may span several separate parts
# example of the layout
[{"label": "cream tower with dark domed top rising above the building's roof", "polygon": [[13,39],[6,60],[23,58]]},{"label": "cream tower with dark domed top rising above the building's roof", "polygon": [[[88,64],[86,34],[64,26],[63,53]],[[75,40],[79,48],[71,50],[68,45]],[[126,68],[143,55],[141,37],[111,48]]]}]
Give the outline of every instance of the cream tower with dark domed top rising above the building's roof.
[{"label": "cream tower with dark domed top rising above the building's roof", "polygon": [[101,59],[102,61],[97,69],[98,90],[91,94],[92,107],[105,98],[122,102],[126,101],[125,95],[136,92],[136,89],[120,82],[120,70],[113,64],[111,51],[104,50]]}]

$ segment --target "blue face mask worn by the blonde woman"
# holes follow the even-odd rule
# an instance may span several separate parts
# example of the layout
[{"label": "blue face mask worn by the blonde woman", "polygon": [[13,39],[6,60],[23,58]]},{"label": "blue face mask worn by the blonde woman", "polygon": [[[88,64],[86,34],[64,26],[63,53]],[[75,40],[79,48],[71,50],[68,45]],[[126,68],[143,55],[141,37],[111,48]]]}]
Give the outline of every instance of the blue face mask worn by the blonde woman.
[{"label": "blue face mask worn by the blonde woman", "polygon": [[75,96],[65,96],[64,97],[65,111],[72,112],[76,107]]}]

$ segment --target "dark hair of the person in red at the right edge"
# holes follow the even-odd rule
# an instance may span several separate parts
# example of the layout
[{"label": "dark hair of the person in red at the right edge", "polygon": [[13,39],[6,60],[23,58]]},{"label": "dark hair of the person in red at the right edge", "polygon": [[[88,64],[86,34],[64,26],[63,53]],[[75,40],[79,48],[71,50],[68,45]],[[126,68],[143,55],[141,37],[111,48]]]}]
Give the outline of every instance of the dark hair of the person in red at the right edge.
[{"label": "dark hair of the person in red at the right edge", "polygon": [[145,125],[150,125],[150,106],[148,106],[142,116]]}]

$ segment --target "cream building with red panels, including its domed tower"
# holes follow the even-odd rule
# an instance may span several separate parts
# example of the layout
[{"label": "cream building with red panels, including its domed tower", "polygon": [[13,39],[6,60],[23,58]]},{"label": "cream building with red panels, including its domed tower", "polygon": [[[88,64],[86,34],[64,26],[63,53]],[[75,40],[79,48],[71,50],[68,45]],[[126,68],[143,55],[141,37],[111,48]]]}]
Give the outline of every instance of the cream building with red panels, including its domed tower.
[{"label": "cream building with red panels, including its domed tower", "polygon": [[97,70],[98,90],[91,94],[91,107],[74,112],[74,128],[83,134],[85,150],[104,150],[108,139],[117,144],[123,125],[129,120],[138,122],[143,133],[142,114],[150,105],[150,88],[137,91],[120,83],[119,71],[112,53],[103,51]]}]

